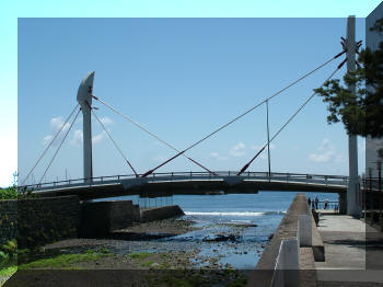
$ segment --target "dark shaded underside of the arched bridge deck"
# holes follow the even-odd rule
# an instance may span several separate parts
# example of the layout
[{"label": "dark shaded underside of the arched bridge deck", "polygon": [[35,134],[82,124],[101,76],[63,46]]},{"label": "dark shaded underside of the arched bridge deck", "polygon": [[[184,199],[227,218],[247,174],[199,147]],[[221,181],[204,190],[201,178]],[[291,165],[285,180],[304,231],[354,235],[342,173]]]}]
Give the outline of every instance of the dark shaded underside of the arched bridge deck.
[{"label": "dark shaded underside of the arched bridge deck", "polygon": [[60,187],[36,192],[40,196],[78,195],[81,199],[96,199],[126,195],[139,195],[141,197],[161,197],[173,194],[202,195],[202,194],[257,194],[258,191],[270,192],[318,192],[318,193],[345,193],[346,186],[313,183],[291,183],[278,181],[241,181],[228,183],[224,180],[210,181],[156,181],[131,185],[127,182],[103,183],[94,185],[81,185]]}]

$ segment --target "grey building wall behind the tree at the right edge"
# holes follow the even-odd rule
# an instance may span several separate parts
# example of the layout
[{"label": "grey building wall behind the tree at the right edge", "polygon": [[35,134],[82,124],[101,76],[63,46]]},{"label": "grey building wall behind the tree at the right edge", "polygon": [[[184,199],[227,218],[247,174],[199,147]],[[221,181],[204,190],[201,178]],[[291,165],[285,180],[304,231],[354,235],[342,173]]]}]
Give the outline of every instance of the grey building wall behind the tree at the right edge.
[{"label": "grey building wall behind the tree at the right edge", "polygon": [[[373,26],[376,20],[383,18],[383,2],[380,3],[365,19],[365,45],[372,50],[379,48],[379,44],[383,42],[383,35],[376,32],[371,32],[370,27]],[[383,161],[378,157],[378,150],[383,148],[383,138],[365,139],[365,174],[369,175],[371,169],[371,175],[378,176],[378,164],[376,162]]]}]

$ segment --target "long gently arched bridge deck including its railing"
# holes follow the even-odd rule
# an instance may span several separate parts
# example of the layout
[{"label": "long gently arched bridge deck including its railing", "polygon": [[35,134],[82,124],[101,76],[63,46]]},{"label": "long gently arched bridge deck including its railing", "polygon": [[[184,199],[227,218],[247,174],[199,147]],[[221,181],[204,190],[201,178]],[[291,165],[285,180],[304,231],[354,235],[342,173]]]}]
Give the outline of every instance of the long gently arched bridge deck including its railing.
[{"label": "long gently arched bridge deck including its railing", "polygon": [[206,194],[207,192],[258,193],[258,191],[306,191],[344,193],[348,177],[294,173],[235,172],[161,173],[150,177],[132,175],[102,176],[86,183],[83,179],[30,185],[42,196],[79,195],[82,199],[114,197],[123,195],[164,196],[164,194]]}]

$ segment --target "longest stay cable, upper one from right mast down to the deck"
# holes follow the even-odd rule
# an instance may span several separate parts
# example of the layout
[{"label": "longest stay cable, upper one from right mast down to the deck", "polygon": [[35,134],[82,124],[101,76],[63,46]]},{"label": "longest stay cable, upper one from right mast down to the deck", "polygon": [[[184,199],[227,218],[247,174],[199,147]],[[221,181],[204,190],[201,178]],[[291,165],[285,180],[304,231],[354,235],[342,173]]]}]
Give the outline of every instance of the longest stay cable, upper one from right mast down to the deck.
[{"label": "longest stay cable, upper one from right mast down to the deck", "polygon": [[170,158],[169,160],[164,161],[163,163],[161,163],[160,165],[155,167],[154,169],[146,172],[142,177],[148,176],[149,174],[153,173],[155,170],[160,169],[161,167],[165,165],[167,162],[174,160],[175,158],[177,158],[178,156],[185,153],[186,151],[188,151],[189,149],[193,149],[195,146],[199,145],[200,142],[202,142],[204,140],[210,138],[211,136],[216,135],[217,133],[219,133],[220,130],[222,130],[223,128],[228,127],[229,125],[233,124],[234,122],[239,120],[241,117],[247,115],[248,113],[253,112],[254,110],[256,110],[257,107],[259,107],[260,105],[263,105],[264,103],[266,103],[267,101],[274,99],[275,96],[279,95],[280,93],[285,92],[286,90],[288,90],[289,88],[291,88],[292,85],[297,84],[298,82],[302,81],[303,79],[307,78],[310,74],[312,74],[313,72],[320,70],[321,68],[325,67],[326,65],[328,65],[329,62],[332,62],[333,60],[335,60],[336,58],[340,57],[343,54],[345,54],[346,50],[343,50],[340,53],[338,53],[337,55],[335,55],[334,57],[332,57],[330,59],[328,59],[327,61],[325,61],[324,64],[320,65],[318,67],[316,67],[315,69],[313,69],[312,71],[303,74],[301,78],[299,78],[298,80],[293,81],[292,83],[288,84],[287,87],[285,87],[283,89],[279,90],[278,92],[274,93],[272,95],[270,95],[269,97],[265,99],[264,101],[262,101],[260,103],[256,104],[255,106],[251,107],[249,110],[247,110],[246,112],[244,112],[243,114],[239,115],[237,117],[233,118],[232,120],[230,120],[229,123],[224,124],[223,126],[219,127],[218,129],[216,129],[214,131],[210,133],[209,135],[207,135],[206,137],[204,137],[202,139],[198,140],[197,142],[193,144],[192,146],[189,146],[188,148],[186,148],[183,151],[179,151],[177,154],[175,154],[174,157]]}]

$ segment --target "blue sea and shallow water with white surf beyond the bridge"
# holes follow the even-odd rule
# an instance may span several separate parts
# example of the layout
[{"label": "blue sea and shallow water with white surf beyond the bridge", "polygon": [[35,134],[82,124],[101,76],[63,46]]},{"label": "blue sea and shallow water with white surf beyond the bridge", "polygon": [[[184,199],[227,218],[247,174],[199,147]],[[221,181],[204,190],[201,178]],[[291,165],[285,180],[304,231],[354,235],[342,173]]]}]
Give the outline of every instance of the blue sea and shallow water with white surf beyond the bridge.
[{"label": "blue sea and shallow water with white surf beyond the bridge", "polygon": [[[300,192],[301,193],[301,192]],[[270,236],[277,230],[297,192],[258,192],[257,194],[173,195],[159,198],[124,196],[141,208],[178,205],[185,213],[182,219],[193,220],[198,230],[158,240],[163,246],[181,249],[198,246],[196,264],[211,264],[211,259],[237,269],[256,266]],[[338,202],[338,194],[305,193],[312,200]],[[330,205],[330,207],[333,207]],[[232,237],[224,242],[217,237]],[[169,244],[166,244],[169,243]],[[187,243],[187,244],[186,244]],[[205,260],[204,260],[205,259]]]}]

